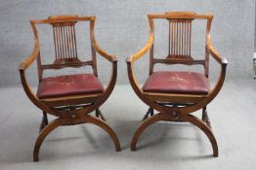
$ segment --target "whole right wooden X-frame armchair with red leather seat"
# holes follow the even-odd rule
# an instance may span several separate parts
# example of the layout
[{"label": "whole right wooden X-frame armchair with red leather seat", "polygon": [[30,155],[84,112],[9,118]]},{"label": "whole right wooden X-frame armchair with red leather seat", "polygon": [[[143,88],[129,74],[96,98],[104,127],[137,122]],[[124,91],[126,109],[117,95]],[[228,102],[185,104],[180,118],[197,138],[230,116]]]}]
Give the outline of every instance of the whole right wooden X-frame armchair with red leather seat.
[{"label": "whole right wooden X-frame armchair with red leather seat", "polygon": [[[211,142],[213,155],[218,156],[218,145],[213,135],[206,106],[219,93],[225,79],[227,60],[213,48],[210,40],[212,15],[198,15],[191,12],[170,12],[149,15],[149,40],[147,45],[127,58],[128,76],[136,94],[149,105],[149,111],[134,133],[131,150],[136,151],[136,144],[141,133],[152,123],[160,120],[188,121],[199,127]],[[169,51],[164,59],[154,58],[154,19],[167,19],[169,24]],[[193,59],[191,55],[192,21],[206,19],[205,58]],[[143,87],[135,77],[134,63],[149,51],[149,79]],[[208,79],[209,54],[220,64],[220,77],[213,88]],[[162,64],[200,64],[204,73],[189,71],[153,71],[156,63]],[[202,119],[192,112],[202,109]],[[154,115],[153,110],[159,113]]]}]

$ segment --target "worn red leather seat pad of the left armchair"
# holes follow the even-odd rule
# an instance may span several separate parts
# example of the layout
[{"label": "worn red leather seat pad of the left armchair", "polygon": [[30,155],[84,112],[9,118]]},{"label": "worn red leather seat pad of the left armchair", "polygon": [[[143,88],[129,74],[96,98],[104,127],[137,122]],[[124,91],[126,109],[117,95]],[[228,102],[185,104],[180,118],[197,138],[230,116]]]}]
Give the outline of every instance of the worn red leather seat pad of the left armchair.
[{"label": "worn red leather seat pad of the left armchair", "polygon": [[104,86],[93,74],[64,75],[43,79],[38,86],[37,97],[61,97],[103,91]]}]

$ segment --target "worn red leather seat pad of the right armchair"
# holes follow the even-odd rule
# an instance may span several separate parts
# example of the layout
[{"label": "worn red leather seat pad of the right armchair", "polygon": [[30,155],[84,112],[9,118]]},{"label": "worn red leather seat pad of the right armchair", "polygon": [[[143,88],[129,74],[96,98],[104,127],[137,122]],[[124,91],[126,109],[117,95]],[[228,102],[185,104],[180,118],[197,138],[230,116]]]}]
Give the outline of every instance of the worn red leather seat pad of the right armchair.
[{"label": "worn red leather seat pad of the right armchair", "polygon": [[153,72],[143,86],[145,92],[207,94],[209,83],[195,72]]}]

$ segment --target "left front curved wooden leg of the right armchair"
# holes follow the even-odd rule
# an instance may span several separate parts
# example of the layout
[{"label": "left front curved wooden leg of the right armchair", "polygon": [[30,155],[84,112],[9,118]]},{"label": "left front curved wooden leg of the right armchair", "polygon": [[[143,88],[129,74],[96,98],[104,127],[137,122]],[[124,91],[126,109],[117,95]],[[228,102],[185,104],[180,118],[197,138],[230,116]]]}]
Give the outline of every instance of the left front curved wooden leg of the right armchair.
[{"label": "left front curved wooden leg of the right armchair", "polygon": [[154,116],[149,117],[148,119],[145,119],[139,126],[139,128],[136,130],[136,132],[133,135],[133,139],[131,142],[131,151],[136,151],[136,144],[137,141],[139,139],[139,137],[141,136],[142,132],[149,127],[150,124],[159,121],[159,120],[163,120],[161,117],[161,113],[156,114]]}]

